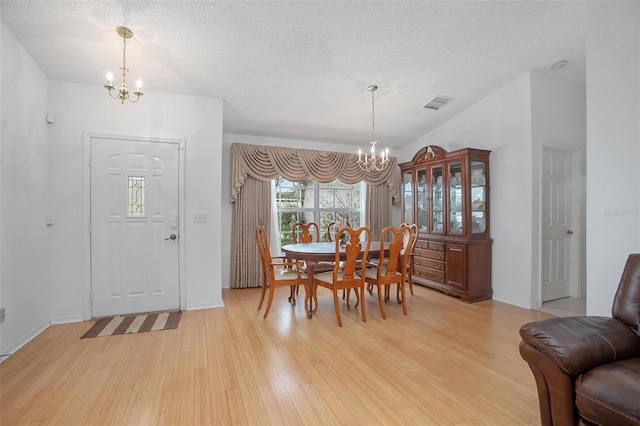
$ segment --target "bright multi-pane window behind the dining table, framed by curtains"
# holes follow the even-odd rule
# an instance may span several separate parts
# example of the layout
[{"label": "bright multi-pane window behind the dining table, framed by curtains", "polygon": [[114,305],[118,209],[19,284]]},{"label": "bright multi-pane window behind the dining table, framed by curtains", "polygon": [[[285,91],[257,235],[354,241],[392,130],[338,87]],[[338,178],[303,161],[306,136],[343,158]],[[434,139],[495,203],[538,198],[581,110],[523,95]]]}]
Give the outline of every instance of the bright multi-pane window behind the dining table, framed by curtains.
[{"label": "bright multi-pane window behind the dining table, framed by curtains", "polygon": [[320,241],[328,241],[327,227],[331,222],[349,222],[354,228],[364,222],[364,183],[290,182],[283,178],[277,178],[275,183],[282,245],[293,242],[291,229],[297,222],[317,223]]}]

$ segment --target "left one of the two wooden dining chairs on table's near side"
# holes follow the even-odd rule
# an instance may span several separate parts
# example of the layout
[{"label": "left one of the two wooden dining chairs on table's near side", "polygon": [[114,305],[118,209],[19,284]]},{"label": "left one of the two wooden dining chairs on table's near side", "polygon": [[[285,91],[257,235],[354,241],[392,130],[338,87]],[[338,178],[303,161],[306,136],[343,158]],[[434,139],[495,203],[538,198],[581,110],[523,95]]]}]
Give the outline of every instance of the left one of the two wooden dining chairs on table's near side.
[{"label": "left one of the two wooden dining chairs on table's near side", "polygon": [[[322,272],[314,274],[314,282],[320,286],[328,288],[333,292],[333,307],[336,311],[336,319],[338,320],[338,326],[342,327],[342,320],[340,318],[340,307],[338,306],[338,291],[339,290],[351,290],[354,289],[356,293],[357,302],[354,307],[360,306],[362,312],[362,322],[367,321],[364,304],[364,276],[366,267],[364,260],[369,255],[369,246],[371,245],[371,231],[367,227],[361,227],[353,229],[350,227],[341,228],[335,235],[348,235],[348,241],[344,246],[340,245],[340,238],[335,240],[335,264],[332,271]],[[364,250],[363,250],[364,247]],[[340,255],[344,252],[346,258],[342,261]],[[358,258],[362,254],[363,262],[358,263]],[[350,309],[349,298],[347,297],[347,309]]]}]

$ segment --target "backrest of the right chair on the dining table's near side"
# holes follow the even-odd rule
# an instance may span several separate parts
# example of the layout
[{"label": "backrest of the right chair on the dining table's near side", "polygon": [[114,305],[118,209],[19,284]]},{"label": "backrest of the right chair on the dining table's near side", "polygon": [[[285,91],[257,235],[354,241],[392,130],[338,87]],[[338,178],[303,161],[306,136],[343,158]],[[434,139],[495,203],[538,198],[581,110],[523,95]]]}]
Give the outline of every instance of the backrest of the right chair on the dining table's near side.
[{"label": "backrest of the right chair on the dining table's near side", "polygon": [[[389,241],[389,249],[385,250]],[[378,262],[378,279],[388,281],[389,283],[404,280],[407,258],[413,244],[413,235],[411,227],[407,224],[395,226],[387,226],[380,233],[380,259],[384,261]]]}]

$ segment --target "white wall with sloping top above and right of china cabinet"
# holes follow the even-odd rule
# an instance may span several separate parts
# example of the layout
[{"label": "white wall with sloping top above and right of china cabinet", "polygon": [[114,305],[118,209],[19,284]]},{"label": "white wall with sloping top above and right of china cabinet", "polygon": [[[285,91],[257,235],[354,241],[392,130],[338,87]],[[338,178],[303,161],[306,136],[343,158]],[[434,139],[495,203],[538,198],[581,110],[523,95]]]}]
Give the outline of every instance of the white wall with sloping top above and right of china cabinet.
[{"label": "white wall with sloping top above and right of china cabinet", "polygon": [[489,158],[493,298],[531,303],[531,76],[526,73],[446,121],[400,153],[426,145],[491,150]]}]

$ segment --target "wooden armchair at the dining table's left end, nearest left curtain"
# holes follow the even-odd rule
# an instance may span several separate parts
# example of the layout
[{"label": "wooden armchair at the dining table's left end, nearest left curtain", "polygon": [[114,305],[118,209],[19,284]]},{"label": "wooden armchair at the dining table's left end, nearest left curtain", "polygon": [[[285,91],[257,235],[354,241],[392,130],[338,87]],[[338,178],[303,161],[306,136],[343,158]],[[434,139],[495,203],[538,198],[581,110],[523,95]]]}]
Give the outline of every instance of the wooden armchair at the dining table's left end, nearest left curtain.
[{"label": "wooden armchair at the dining table's left end, nearest left curtain", "polygon": [[267,300],[267,308],[264,311],[264,317],[269,315],[271,302],[273,301],[273,293],[276,287],[289,287],[289,301],[296,303],[295,289],[300,284],[307,285],[309,278],[307,274],[301,272],[302,262],[288,261],[285,256],[271,256],[269,250],[269,236],[264,226],[256,226],[256,243],[258,252],[260,253],[260,262],[262,265],[262,294],[260,295],[260,303],[258,310],[262,307],[267,287],[269,287],[269,299]]}]

